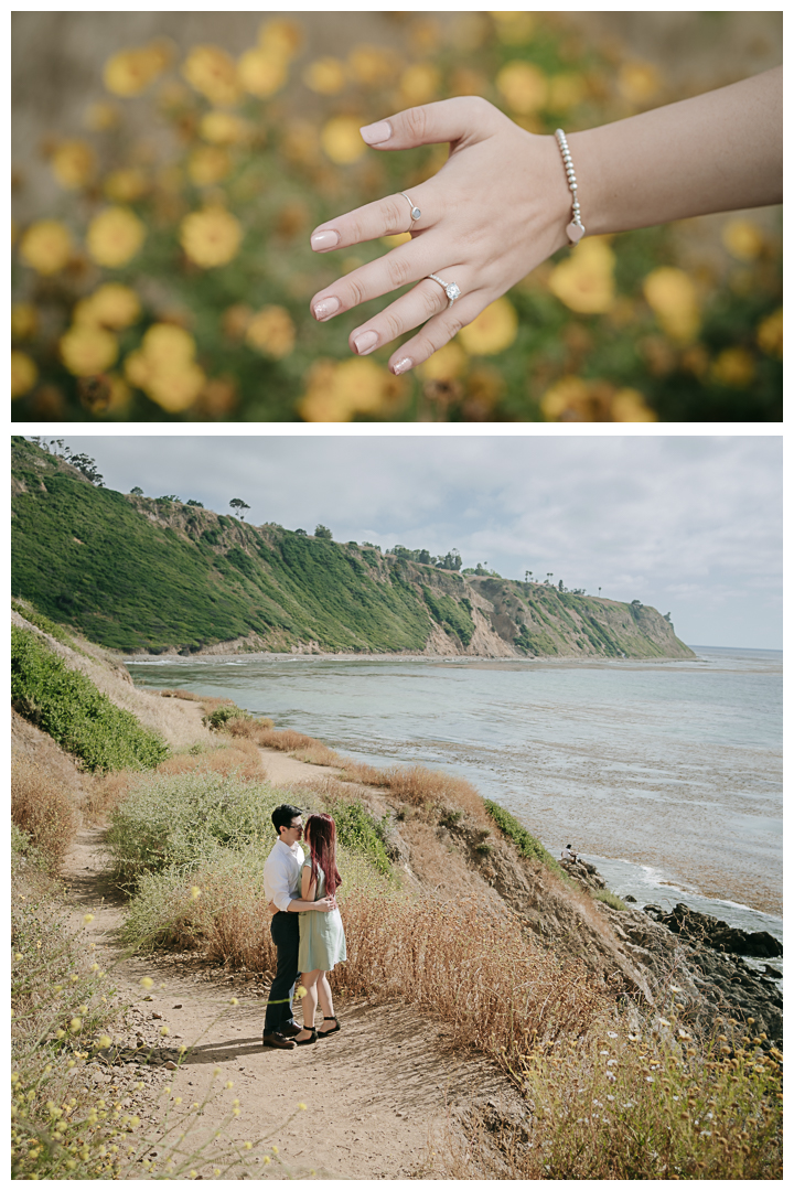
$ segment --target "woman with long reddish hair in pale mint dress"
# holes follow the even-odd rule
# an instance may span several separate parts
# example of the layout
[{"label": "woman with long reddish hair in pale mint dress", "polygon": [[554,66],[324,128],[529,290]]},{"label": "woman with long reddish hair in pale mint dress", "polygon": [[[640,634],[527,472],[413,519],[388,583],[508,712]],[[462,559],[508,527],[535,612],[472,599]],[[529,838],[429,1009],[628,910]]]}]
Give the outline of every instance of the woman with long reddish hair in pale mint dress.
[{"label": "woman with long reddish hair in pale mint dress", "polygon": [[[330,815],[308,816],[304,827],[304,843],[310,855],[304,861],[301,898],[305,902],[317,902],[326,894],[336,893],[342,884],[336,856],[337,829]],[[333,1012],[331,985],[326,972],[331,972],[335,964],[340,964],[346,958],[344,928],[338,910],[300,915],[298,966],[306,996],[302,1005],[304,1029],[295,1035],[298,1046],[307,1046],[325,1037],[326,1034],[338,1033],[339,1023]],[[319,1029],[315,1029],[314,1014],[318,999],[323,1010],[323,1022]]]}]

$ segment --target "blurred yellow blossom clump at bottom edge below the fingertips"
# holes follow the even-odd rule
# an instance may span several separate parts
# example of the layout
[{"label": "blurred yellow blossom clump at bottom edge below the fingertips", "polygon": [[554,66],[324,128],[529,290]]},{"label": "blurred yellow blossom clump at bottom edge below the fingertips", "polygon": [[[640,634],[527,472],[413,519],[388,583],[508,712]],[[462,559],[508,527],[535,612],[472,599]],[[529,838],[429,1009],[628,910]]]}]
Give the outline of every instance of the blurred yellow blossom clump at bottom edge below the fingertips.
[{"label": "blurred yellow blossom clump at bottom edge below the fingertips", "polygon": [[318,360],[307,376],[307,388],[296,403],[304,422],[350,422],[356,413],[392,409],[404,386],[374,360],[356,356],[335,363]]}]

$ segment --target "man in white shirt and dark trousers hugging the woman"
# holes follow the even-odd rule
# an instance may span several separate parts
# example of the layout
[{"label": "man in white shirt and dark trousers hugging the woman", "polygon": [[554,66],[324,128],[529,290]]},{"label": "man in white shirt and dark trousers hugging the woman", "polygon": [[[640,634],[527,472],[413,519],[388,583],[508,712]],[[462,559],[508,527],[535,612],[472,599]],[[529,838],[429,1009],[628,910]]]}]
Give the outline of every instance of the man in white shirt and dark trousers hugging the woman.
[{"label": "man in white shirt and dark trousers hugging the woman", "polygon": [[273,825],[279,840],[264,862],[263,885],[268,902],[277,906],[270,921],[270,937],[276,947],[276,974],[270,985],[268,1008],[264,1015],[262,1045],[280,1050],[295,1047],[294,1034],[301,1027],[293,1017],[292,1000],[298,980],[298,949],[300,925],[298,915],[336,909],[336,898],[325,897],[319,902],[301,900],[301,869],[304,849],[298,842],[304,834],[302,812],[298,806],[282,803],[273,812]]}]

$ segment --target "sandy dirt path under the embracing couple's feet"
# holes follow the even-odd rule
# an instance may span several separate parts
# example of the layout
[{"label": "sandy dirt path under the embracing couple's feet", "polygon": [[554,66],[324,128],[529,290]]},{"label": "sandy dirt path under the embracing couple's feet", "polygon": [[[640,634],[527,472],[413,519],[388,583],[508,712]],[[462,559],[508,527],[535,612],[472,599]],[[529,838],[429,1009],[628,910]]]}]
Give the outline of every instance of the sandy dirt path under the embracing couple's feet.
[{"label": "sandy dirt path under the embracing couple's feet", "polygon": [[[307,769],[317,774],[317,766],[263,753],[273,781],[305,780]],[[433,1139],[455,1109],[486,1099],[507,1106],[514,1099],[493,1064],[456,1053],[444,1027],[401,1005],[338,1003],[339,1034],[289,1052],[265,1050],[261,1039],[267,985],[256,978],[231,977],[192,956],[124,958],[118,940],[124,904],[104,875],[102,834],[98,828],[80,833],[63,875],[75,924],[87,911],[95,915],[85,928],[86,943],[94,944],[102,967],[112,968],[113,985],[131,1005],[126,1029],[120,1027],[114,1037],[125,1046],[135,1047],[137,1037],[158,1047],[165,1025],[170,1047],[190,1048],[176,1071],[164,1067],[168,1055],[146,1066],[88,1065],[89,1086],[107,1084],[127,1111],[142,1117],[152,1161],[164,1153],[158,1140],[165,1103],[173,1112],[185,1112],[201,1103],[211,1085],[218,1089],[217,1098],[204,1115],[193,1114],[189,1133],[194,1146],[207,1143],[204,1164],[195,1162],[202,1178],[213,1178],[215,1154],[230,1139],[264,1139],[271,1158],[269,1147],[275,1145],[289,1170],[304,1177],[314,1171],[320,1178],[433,1178]],[[149,992],[139,984],[144,975],[155,981]],[[227,1081],[232,1089],[225,1087]],[[140,1083],[143,1089],[136,1086]],[[176,1097],[182,1098],[180,1106]],[[226,1141],[213,1141],[236,1098],[239,1115],[231,1120]],[[276,1160],[263,1164],[264,1153],[265,1147],[257,1146],[245,1166],[224,1177],[283,1178]]]}]

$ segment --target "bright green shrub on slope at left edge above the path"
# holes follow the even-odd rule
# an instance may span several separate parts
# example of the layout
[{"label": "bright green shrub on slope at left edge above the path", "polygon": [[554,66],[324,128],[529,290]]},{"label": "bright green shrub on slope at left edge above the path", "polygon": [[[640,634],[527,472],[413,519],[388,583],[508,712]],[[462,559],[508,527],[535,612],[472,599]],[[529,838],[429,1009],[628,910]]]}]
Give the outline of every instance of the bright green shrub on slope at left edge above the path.
[{"label": "bright green shrub on slope at left edge above the path", "polygon": [[11,628],[11,699],[88,769],[151,768],[168,746],[130,711],[111,703],[85,674],[70,671],[46,642]]}]

